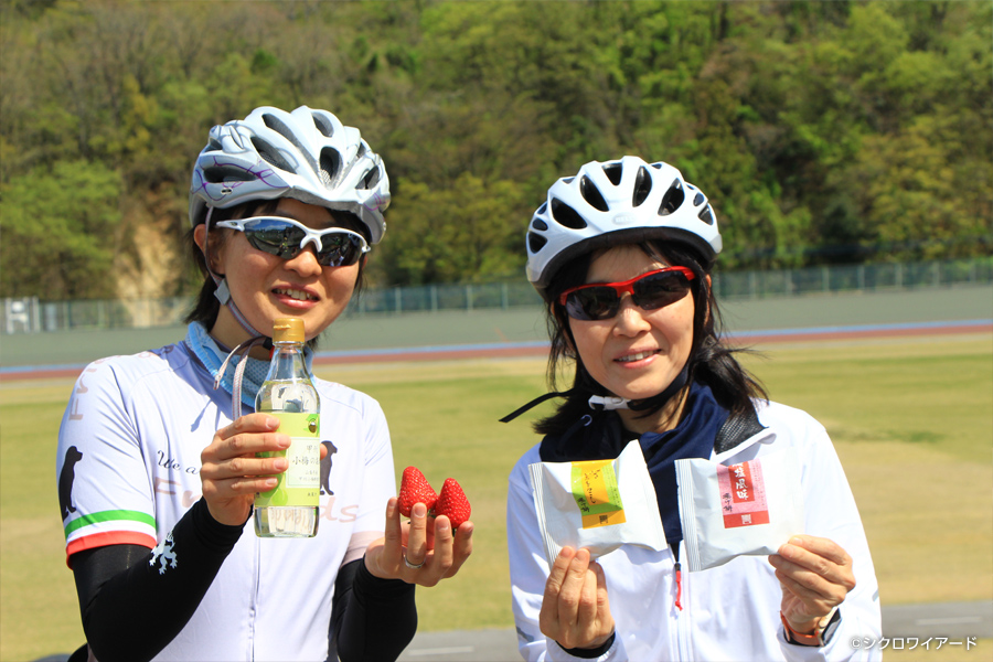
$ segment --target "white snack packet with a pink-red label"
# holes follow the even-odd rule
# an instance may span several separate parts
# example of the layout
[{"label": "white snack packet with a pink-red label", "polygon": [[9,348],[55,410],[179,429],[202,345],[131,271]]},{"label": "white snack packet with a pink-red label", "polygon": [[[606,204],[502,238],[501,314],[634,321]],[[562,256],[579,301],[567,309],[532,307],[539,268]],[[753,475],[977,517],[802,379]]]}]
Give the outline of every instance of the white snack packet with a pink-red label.
[{"label": "white snack packet with a pink-red label", "polygon": [[680,521],[690,572],[739,555],[777,554],[803,533],[800,466],[792,448],[747,462],[676,460]]}]

